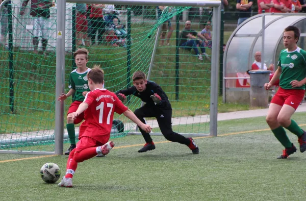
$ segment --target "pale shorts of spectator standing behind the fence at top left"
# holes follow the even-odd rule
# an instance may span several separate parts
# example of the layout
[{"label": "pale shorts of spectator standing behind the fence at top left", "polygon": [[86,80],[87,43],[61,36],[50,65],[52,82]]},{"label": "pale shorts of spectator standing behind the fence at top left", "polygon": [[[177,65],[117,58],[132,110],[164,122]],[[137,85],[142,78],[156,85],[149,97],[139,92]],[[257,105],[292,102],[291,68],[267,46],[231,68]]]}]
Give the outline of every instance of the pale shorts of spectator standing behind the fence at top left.
[{"label": "pale shorts of spectator standing behind the fence at top left", "polygon": [[43,17],[33,17],[33,34],[35,37],[48,38],[49,20]]}]

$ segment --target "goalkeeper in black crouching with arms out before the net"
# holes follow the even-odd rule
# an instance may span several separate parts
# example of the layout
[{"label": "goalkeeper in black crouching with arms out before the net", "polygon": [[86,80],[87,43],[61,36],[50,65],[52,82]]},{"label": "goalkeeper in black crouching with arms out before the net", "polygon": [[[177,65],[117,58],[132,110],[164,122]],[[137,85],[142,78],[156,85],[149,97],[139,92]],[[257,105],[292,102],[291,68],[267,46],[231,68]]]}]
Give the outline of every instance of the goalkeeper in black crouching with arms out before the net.
[{"label": "goalkeeper in black crouching with arms out before the net", "polygon": [[[172,131],[171,116],[172,108],[166,93],[155,82],[147,81],[145,73],[136,71],[133,74],[133,87],[116,92],[118,98],[123,102],[127,95],[135,95],[146,103],[141,108],[135,110],[134,114],[145,123],[144,117],[155,117],[160,130],[165,138],[172,142],[179,142],[187,145],[193,154],[199,153],[199,148],[192,138],[186,138]],[[155,144],[149,133],[142,129],[140,132],[145,140],[145,145],[138,150],[139,153],[155,149]]]}]

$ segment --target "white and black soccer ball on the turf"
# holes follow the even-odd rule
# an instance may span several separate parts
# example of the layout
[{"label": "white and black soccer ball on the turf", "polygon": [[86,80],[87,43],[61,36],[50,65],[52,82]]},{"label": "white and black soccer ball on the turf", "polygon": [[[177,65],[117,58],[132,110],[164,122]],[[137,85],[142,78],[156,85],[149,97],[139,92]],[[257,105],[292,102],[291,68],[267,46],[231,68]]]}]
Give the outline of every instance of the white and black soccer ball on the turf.
[{"label": "white and black soccer ball on the turf", "polygon": [[55,163],[46,163],[40,168],[40,177],[48,184],[55,183],[61,177],[60,167]]}]

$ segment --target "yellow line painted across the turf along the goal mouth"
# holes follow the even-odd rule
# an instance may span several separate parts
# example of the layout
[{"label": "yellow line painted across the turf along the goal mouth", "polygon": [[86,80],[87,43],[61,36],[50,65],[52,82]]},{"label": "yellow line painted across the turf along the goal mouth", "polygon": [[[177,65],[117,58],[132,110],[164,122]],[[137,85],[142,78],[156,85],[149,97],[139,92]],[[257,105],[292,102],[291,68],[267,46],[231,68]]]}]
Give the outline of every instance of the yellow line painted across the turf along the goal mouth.
[{"label": "yellow line painted across the turf along the goal mouth", "polygon": [[[300,124],[299,127],[303,127],[306,124]],[[241,132],[235,132],[235,133],[225,133],[220,134],[218,136],[229,136],[229,135],[238,135],[238,134],[244,134],[244,133],[255,133],[255,132],[262,132],[262,131],[269,131],[270,129],[260,129],[260,130],[252,130],[252,131],[241,131]],[[203,137],[194,137],[193,139],[201,139],[201,138],[211,138],[213,136],[203,136]],[[162,144],[162,143],[169,143],[171,141],[160,141],[160,142],[154,142],[155,144]],[[129,148],[134,146],[142,146],[143,144],[131,144],[131,145],[124,145],[124,146],[115,146],[114,149],[118,148]],[[29,157],[29,158],[21,158],[21,159],[11,159],[11,160],[5,160],[0,161],[0,163],[7,163],[7,162],[15,162],[15,161],[22,161],[22,160],[32,160],[32,159],[40,159],[40,158],[47,158],[47,157],[54,157],[58,155],[45,155],[45,156],[37,156],[37,157]]]}]

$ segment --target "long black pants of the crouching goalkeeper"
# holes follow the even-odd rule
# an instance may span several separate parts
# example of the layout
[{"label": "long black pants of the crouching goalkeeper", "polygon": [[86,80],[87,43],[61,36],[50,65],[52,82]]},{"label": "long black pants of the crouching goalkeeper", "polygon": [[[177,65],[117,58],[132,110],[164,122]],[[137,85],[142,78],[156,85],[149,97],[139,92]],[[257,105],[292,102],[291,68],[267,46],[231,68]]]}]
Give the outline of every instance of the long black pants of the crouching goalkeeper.
[{"label": "long black pants of the crouching goalkeeper", "polygon": [[[158,125],[162,134],[165,138],[172,142],[179,142],[181,144],[186,144],[187,146],[190,144],[190,140],[178,133],[172,131],[172,109],[164,110],[158,107],[148,107],[146,105],[141,108],[135,110],[134,114],[145,123],[144,117],[155,117],[157,119]],[[152,142],[152,138],[149,133],[144,132],[140,129],[140,132],[146,143]]]}]

